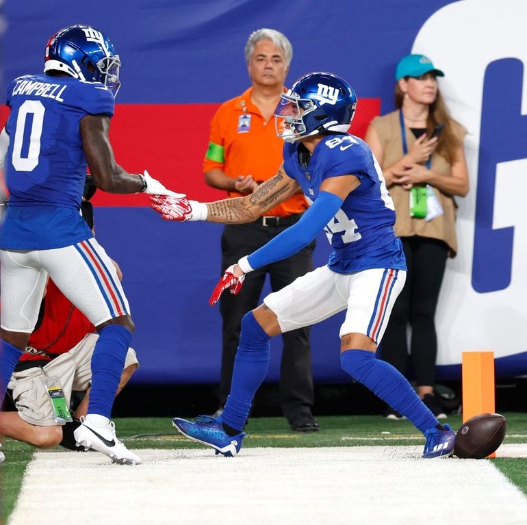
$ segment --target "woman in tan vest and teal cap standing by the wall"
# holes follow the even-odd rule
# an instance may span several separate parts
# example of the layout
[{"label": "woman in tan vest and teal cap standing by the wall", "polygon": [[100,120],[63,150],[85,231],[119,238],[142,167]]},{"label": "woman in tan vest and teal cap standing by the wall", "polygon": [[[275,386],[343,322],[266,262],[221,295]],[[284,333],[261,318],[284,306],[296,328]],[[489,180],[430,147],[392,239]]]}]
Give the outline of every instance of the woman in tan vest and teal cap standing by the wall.
[{"label": "woman in tan vest and teal cap standing by the wall", "polygon": [[[407,372],[407,326],[417,393],[437,418],[446,418],[434,395],[435,309],[447,257],[455,257],[456,203],[469,189],[463,150],[466,131],[452,119],[439,93],[444,73],[424,55],[407,55],[396,70],[396,111],[372,120],[365,136],[378,159],[396,208],[396,234],[407,257],[407,282],[381,345],[382,357]],[[391,409],[385,417],[402,416]]]}]

